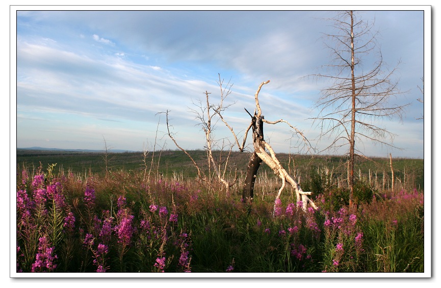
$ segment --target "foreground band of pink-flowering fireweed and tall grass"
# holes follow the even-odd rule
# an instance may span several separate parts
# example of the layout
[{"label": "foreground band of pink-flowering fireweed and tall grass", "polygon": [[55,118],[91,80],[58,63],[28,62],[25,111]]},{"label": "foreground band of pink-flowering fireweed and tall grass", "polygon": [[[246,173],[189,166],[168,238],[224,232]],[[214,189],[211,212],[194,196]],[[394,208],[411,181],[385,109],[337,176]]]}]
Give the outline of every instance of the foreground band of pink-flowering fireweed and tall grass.
[{"label": "foreground band of pink-flowering fireweed and tall grass", "polygon": [[271,195],[245,203],[192,180],[54,167],[17,169],[17,272],[424,271],[417,190],[304,212],[289,195],[274,207]]}]

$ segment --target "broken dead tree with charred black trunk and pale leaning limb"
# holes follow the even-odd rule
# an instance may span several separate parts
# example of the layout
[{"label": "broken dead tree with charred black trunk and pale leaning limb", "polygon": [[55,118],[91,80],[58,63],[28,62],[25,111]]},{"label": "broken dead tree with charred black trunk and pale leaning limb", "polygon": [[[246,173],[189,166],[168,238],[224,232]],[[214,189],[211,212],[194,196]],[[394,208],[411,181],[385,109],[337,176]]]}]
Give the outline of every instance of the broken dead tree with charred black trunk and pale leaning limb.
[{"label": "broken dead tree with charred black trunk and pale leaning limb", "polygon": [[[247,174],[245,177],[244,190],[243,190],[243,199],[244,199],[244,201],[252,201],[256,173],[257,173],[257,170],[260,167],[261,163],[265,162],[274,171],[274,173],[282,180],[282,184],[281,184],[280,189],[278,190],[275,202],[277,202],[277,200],[280,199],[280,195],[281,195],[283,189],[286,187],[287,182],[288,182],[288,184],[291,185],[291,187],[296,192],[297,201],[302,201],[302,203],[303,203],[302,207],[303,207],[304,211],[306,211],[308,204],[310,206],[312,206],[313,208],[317,209],[316,204],[308,197],[308,195],[311,195],[312,192],[304,192],[301,189],[299,183],[296,180],[294,180],[294,178],[291,177],[291,175],[280,164],[280,162],[277,159],[276,153],[274,152],[271,145],[268,142],[266,142],[264,139],[264,132],[263,132],[264,123],[276,124],[276,123],[283,122],[283,123],[288,124],[294,130],[294,133],[300,135],[300,137],[302,138],[304,143],[308,147],[310,147],[309,141],[304,137],[303,133],[300,132],[300,130],[298,130],[297,128],[295,128],[293,125],[291,125],[289,122],[287,122],[286,120],[283,120],[283,119],[279,119],[277,121],[268,121],[262,115],[262,110],[260,107],[258,94],[259,94],[260,90],[262,89],[262,86],[264,86],[265,84],[268,84],[269,82],[270,81],[268,80],[266,82],[261,83],[261,85],[259,85],[259,87],[254,95],[255,105],[256,105],[254,115],[251,115],[245,109],[245,111],[247,111],[247,113],[251,116],[251,123],[245,131],[244,140],[242,142],[242,145],[239,144],[239,140],[238,140],[236,134],[234,133],[234,130],[231,128],[231,126],[229,126],[228,123],[225,121],[225,119],[222,116],[220,116],[221,120],[231,130],[231,133],[234,136],[234,138],[236,140],[236,144],[238,145],[240,151],[244,150],[244,145],[246,142],[246,138],[247,138],[249,129],[250,128],[252,129],[254,152],[251,154],[251,158],[248,163],[248,169],[247,169]],[[275,205],[274,205],[274,208],[275,208]]]}]

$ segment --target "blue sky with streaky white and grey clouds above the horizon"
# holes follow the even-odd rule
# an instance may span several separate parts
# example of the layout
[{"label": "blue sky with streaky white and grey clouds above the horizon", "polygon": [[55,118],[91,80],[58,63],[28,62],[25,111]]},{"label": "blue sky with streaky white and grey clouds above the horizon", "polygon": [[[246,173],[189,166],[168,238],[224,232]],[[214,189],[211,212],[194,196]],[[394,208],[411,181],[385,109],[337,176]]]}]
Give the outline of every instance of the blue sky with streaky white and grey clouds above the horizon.
[{"label": "blue sky with streaky white and grey clouds above the horizon", "polygon": [[[428,55],[424,58],[423,34],[424,16],[430,11],[416,6],[395,8],[371,7],[359,17],[375,20],[378,47],[387,67],[392,69],[401,61],[398,88],[408,92],[389,104],[410,105],[402,122],[384,119],[374,124],[396,134],[393,145],[403,149],[373,145],[369,140],[358,143],[358,149],[368,156],[392,153],[423,158],[424,121],[417,118],[424,114],[424,106],[417,99],[424,98],[419,89],[424,62],[426,73],[430,66]],[[191,109],[197,109],[194,103],[204,100],[205,91],[211,93],[213,103],[219,102],[220,74],[224,87],[232,84],[224,102],[231,106],[224,117],[241,139],[250,122],[244,108],[254,111],[258,85],[270,80],[260,92],[265,119],[287,120],[313,146],[326,147],[330,140],[319,139],[320,130],[310,118],[318,115],[314,103],[329,83],[306,76],[323,72],[320,67],[330,63],[322,35],[335,32],[324,19],[336,12],[317,10],[317,6],[303,11],[256,9],[266,8],[18,10],[16,22],[11,19],[17,32],[16,123],[11,122],[16,124],[16,146],[102,149],[105,139],[113,149],[140,151],[143,145],[152,148],[158,134],[158,147],[175,149],[164,136],[165,114],[158,114],[169,111],[177,143],[201,149],[204,134]],[[363,69],[369,70],[372,60],[367,57]],[[265,137],[276,152],[296,152],[296,137],[290,130],[283,123],[266,124]],[[217,143],[230,136],[228,128],[217,122]]]}]

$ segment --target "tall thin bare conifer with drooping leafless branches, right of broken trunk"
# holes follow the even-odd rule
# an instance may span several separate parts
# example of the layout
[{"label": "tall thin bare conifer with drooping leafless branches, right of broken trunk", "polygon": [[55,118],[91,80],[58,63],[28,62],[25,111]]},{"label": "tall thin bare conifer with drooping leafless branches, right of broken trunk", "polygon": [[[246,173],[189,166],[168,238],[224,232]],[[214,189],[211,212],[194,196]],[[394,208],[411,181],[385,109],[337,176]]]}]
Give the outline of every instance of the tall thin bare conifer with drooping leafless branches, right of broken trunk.
[{"label": "tall thin bare conifer with drooping leafless branches, right of broken trunk", "polygon": [[[332,139],[324,150],[349,146],[350,207],[354,204],[354,156],[363,154],[357,143],[365,139],[397,148],[392,144],[396,135],[377,123],[384,117],[401,119],[409,105],[389,104],[392,97],[405,93],[400,92],[398,80],[394,80],[400,63],[392,70],[386,69],[381,51],[377,49],[378,32],[373,32],[374,22],[359,19],[358,15],[354,11],[343,11],[331,19],[335,34],[325,35],[330,40],[325,44],[331,51],[330,64],[325,67],[331,72],[313,75],[333,83],[322,89],[322,97],[314,107],[319,109],[319,114],[313,119],[321,128],[321,137]],[[376,61],[367,71],[365,57],[372,57],[375,52]]]}]

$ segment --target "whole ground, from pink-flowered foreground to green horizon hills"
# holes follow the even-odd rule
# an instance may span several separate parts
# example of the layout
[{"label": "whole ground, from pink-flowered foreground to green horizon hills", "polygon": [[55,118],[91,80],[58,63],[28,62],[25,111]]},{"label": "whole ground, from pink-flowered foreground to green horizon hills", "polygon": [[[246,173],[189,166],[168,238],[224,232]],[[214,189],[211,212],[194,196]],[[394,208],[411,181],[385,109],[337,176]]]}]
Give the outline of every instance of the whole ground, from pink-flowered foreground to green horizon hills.
[{"label": "whole ground, from pink-flowered foreground to green horizon hills", "polygon": [[350,210],[344,157],[278,154],[305,212],[265,165],[245,203],[246,153],[229,193],[181,151],[107,156],[17,150],[17,272],[424,272],[423,160],[358,159]]}]

